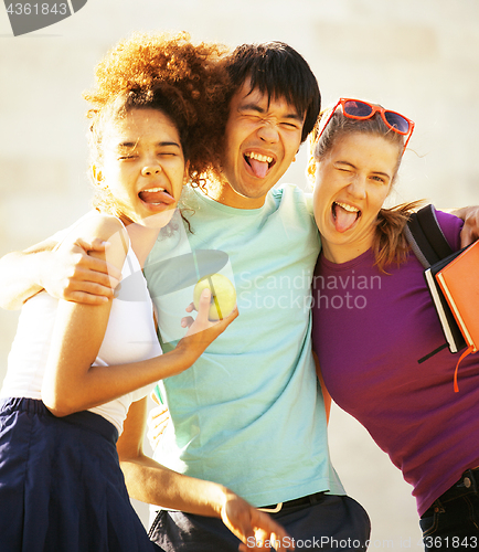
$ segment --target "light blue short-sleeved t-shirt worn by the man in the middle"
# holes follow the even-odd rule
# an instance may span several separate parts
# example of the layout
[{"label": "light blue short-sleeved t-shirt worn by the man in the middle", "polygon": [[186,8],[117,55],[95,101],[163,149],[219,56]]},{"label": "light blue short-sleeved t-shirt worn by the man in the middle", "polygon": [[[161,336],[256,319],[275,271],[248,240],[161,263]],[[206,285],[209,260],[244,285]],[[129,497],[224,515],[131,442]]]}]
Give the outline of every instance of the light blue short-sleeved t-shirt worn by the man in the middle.
[{"label": "light blue short-sleeved t-shirt worn by the man in the middle", "polygon": [[310,285],[320,250],[311,198],[285,185],[260,209],[241,210],[187,189],[183,202],[192,233],[178,220],[145,267],[163,350],[184,335],[180,321],[205,266],[234,283],[240,317],[192,368],[161,382],[172,423],[155,458],[254,506],[343,495],[311,354]]}]

